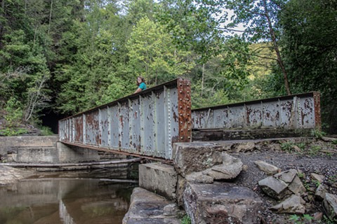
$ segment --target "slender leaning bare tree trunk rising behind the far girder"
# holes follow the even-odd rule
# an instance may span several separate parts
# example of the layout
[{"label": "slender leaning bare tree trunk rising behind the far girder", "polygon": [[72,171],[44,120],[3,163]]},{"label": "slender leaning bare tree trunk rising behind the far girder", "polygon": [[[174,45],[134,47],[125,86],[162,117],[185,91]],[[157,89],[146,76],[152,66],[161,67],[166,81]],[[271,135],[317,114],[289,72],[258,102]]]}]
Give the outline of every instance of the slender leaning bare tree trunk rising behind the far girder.
[{"label": "slender leaning bare tree trunk rising behind the far girder", "polygon": [[282,70],[283,77],[284,77],[284,87],[286,88],[286,93],[291,94],[290,88],[289,88],[289,81],[288,81],[288,76],[286,73],[286,68],[284,67],[283,60],[281,57],[281,54],[279,52],[279,45],[277,44],[276,36],[275,36],[275,31],[272,28],[272,22],[270,21],[270,16],[269,16],[269,11],[267,10],[267,3],[265,2],[266,0],[263,0],[263,7],[265,8],[265,18],[267,18],[268,21],[268,27],[270,31],[270,36],[272,37],[272,44],[274,45],[274,50],[277,55],[277,63],[279,64],[279,67]]}]

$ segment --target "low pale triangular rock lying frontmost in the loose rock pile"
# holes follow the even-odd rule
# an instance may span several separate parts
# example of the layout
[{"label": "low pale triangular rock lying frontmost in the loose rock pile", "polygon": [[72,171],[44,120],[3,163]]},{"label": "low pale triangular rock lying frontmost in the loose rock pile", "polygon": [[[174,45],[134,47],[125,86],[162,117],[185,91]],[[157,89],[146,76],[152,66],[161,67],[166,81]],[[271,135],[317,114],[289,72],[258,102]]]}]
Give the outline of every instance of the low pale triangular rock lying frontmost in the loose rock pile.
[{"label": "low pale triangular rock lying frontmost in the loose rock pile", "polygon": [[305,201],[298,195],[291,195],[283,202],[270,207],[271,211],[287,214],[305,214]]}]

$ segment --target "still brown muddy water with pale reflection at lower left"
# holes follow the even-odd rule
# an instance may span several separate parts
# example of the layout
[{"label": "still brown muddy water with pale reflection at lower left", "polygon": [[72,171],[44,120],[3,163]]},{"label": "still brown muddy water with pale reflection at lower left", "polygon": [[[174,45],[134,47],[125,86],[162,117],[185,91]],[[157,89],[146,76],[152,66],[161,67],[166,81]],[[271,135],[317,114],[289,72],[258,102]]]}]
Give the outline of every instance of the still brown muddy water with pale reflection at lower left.
[{"label": "still brown muddy water with pale reflection at lower left", "polygon": [[0,223],[121,223],[136,181],[66,174],[0,187]]}]

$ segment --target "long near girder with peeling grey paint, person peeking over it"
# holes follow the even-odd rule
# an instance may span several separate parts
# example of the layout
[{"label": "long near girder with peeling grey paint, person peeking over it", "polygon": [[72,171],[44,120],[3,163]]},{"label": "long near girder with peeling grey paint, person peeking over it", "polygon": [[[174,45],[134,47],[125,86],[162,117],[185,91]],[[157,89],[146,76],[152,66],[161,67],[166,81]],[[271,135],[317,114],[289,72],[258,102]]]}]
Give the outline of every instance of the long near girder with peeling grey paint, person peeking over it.
[{"label": "long near girder with peeling grey paint, person peeking over it", "polygon": [[172,159],[175,142],[191,141],[190,80],[178,78],[59,121],[65,144]]}]

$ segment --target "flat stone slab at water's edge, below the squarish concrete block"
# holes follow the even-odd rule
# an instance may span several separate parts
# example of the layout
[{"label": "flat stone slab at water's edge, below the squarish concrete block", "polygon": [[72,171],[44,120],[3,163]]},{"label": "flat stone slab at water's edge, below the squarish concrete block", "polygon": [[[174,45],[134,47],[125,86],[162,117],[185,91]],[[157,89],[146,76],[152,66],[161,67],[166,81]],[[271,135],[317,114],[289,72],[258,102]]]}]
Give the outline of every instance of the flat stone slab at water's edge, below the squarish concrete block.
[{"label": "flat stone slab at water's edge, below the squarish concrete block", "polygon": [[134,188],[130,207],[124,216],[123,224],[180,224],[180,216],[183,212],[178,209],[171,209],[168,212],[166,209],[172,207],[173,204],[175,203],[148,190]]}]

